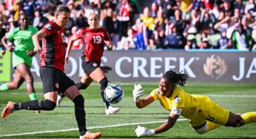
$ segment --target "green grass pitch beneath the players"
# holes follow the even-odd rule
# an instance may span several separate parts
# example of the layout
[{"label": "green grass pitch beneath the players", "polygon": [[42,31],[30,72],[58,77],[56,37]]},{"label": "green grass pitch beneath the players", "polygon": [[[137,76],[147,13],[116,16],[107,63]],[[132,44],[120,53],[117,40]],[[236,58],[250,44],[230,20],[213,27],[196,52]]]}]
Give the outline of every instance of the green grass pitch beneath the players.
[{"label": "green grass pitch beneath the players", "polygon": [[[169,112],[164,110],[158,101],[144,109],[138,109],[132,99],[132,84],[119,83],[124,88],[124,99],[118,106],[120,112],[117,115],[106,116],[104,105],[99,94],[99,85],[92,84],[88,89],[81,90],[85,98],[87,112],[87,127],[92,132],[103,132],[102,138],[137,138],[135,135],[136,123],[146,123],[152,121],[166,121]],[[146,95],[158,83],[142,84]],[[38,98],[43,99],[41,84],[36,84]],[[202,84],[191,83],[182,87],[191,94],[209,95],[213,101],[232,112],[256,111],[256,85],[255,84]],[[146,96],[145,95],[145,96]],[[222,96],[213,96],[222,95]],[[223,95],[252,95],[251,97],[227,97]],[[29,101],[26,94],[25,85],[20,89],[0,92],[0,110],[4,108],[8,101],[22,102]],[[130,123],[130,125],[128,125]],[[124,126],[110,127],[112,125],[125,124]],[[148,129],[154,129],[161,123],[140,124]],[[107,127],[103,127],[107,126]],[[20,110],[14,112],[4,119],[0,119],[0,138],[78,138],[78,130],[75,130],[74,109],[72,101],[64,99],[61,106],[50,112],[41,112],[36,115],[33,111]],[[65,132],[47,132],[33,135],[16,135],[28,132],[57,131],[71,129]],[[13,135],[3,137],[4,135]],[[251,123],[240,128],[222,126],[203,135],[198,135],[189,126],[187,121],[178,121],[172,129],[151,138],[256,138],[256,124]]]}]

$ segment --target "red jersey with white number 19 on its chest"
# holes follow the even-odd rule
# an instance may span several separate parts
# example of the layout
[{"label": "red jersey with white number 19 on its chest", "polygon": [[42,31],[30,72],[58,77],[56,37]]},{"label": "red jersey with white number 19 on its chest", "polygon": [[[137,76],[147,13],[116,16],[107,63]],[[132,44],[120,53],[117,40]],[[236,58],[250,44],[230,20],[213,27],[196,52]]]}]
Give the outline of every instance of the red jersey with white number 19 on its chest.
[{"label": "red jersey with white number 19 on its chest", "polygon": [[82,60],[94,61],[97,64],[101,64],[101,57],[105,46],[104,41],[110,41],[107,31],[101,27],[96,30],[84,27],[78,30],[76,36],[83,41]]}]

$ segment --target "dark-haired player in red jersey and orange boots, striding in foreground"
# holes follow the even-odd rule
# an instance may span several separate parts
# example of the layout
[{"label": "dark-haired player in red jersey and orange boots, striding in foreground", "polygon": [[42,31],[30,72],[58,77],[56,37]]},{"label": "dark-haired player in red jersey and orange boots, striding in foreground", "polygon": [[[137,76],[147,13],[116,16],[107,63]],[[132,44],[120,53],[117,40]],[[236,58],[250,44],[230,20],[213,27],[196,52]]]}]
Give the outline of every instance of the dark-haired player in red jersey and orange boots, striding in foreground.
[{"label": "dark-haired player in red jersey and orange boots, striding in foreground", "polygon": [[[35,51],[40,54],[40,75],[43,82],[44,101],[28,101],[16,104],[9,102],[3,109],[1,118],[5,118],[10,113],[20,110],[53,110],[56,106],[58,90],[64,92],[75,104],[75,119],[81,138],[100,138],[101,132],[91,133],[87,131],[84,98],[75,86],[75,83],[67,77],[64,71],[64,58],[67,44],[64,41],[64,27],[70,19],[70,9],[64,5],[56,7],[53,4],[48,6],[53,21],[48,22],[35,35],[33,43]],[[39,40],[42,40],[42,47]]]}]

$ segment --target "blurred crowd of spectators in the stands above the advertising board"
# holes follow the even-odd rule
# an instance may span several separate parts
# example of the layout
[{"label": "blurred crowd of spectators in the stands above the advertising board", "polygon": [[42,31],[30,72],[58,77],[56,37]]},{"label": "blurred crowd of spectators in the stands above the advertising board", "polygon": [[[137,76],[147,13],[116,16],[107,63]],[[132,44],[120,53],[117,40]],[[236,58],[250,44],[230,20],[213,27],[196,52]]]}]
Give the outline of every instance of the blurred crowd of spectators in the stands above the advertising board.
[{"label": "blurred crowd of spectators in the stands above the advertising board", "polygon": [[[3,28],[18,27],[18,14],[24,12],[40,30],[51,20],[50,2],[71,10],[67,40],[88,26],[87,15],[93,10],[114,50],[256,49],[255,0],[152,0],[148,7],[138,0],[5,0],[0,5]],[[81,49],[81,43],[73,48]]]}]

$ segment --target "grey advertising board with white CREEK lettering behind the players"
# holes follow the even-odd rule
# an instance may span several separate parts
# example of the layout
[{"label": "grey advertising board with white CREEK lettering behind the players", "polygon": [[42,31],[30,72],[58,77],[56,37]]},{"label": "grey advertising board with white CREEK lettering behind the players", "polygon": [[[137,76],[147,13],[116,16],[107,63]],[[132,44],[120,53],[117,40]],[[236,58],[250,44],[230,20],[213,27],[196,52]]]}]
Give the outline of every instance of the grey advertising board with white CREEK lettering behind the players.
[{"label": "grey advertising board with white CREEK lettering behind the players", "polygon": [[[101,67],[113,82],[159,81],[166,70],[172,69],[188,74],[189,82],[256,83],[255,54],[229,50],[105,51]],[[81,50],[73,50],[65,65],[65,72],[75,82],[84,72],[80,55]],[[31,67],[35,81],[41,81],[38,69],[37,55]]]}]

